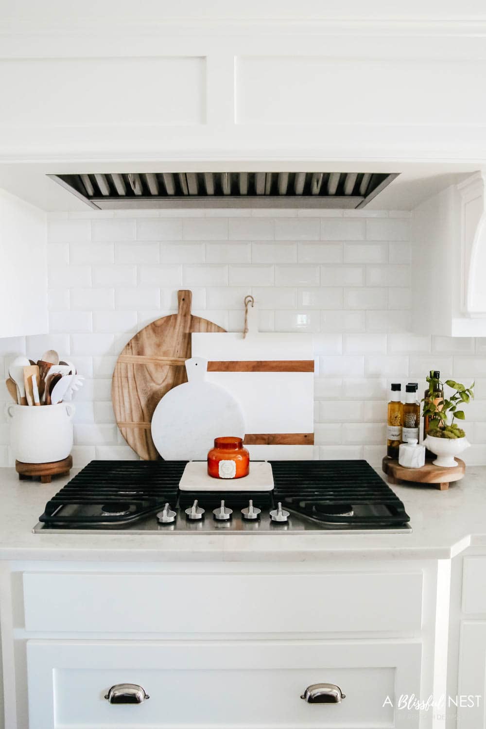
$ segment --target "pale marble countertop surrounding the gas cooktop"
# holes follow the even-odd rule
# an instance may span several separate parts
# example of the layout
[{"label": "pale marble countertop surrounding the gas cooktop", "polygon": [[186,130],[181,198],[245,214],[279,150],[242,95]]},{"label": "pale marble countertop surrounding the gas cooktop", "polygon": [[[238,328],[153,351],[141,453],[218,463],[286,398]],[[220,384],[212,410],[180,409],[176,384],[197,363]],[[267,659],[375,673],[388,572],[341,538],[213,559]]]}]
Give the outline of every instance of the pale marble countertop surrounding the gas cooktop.
[{"label": "pale marble countertop surrounding the gas cooktop", "polygon": [[[74,470],[71,475],[74,475]],[[380,475],[381,474],[380,472]],[[319,561],[329,558],[450,558],[486,547],[486,467],[471,467],[448,491],[393,486],[411,534],[34,534],[44,505],[68,479],[19,481],[0,469],[0,559],[103,561]]]}]

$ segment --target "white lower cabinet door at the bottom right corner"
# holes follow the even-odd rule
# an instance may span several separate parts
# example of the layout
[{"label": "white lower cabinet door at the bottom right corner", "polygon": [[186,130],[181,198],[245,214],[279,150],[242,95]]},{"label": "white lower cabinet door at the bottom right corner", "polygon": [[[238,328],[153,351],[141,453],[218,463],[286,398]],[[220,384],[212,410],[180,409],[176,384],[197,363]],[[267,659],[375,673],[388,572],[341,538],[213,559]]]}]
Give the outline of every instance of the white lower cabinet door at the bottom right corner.
[{"label": "white lower cabinet door at the bottom right corner", "polygon": [[[455,697],[454,697],[455,699]],[[460,631],[458,727],[486,729],[486,622],[463,622]],[[449,712],[454,706],[449,707]]]}]

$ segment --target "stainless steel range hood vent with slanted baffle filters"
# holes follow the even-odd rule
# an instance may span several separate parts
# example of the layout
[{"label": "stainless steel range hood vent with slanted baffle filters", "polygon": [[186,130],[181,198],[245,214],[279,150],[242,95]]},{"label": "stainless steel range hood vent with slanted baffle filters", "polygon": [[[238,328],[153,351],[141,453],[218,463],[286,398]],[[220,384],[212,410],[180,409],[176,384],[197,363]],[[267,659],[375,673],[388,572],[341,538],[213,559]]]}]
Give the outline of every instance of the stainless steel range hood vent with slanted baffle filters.
[{"label": "stainless steel range hood vent with slanted baffle filters", "polygon": [[49,175],[87,205],[128,208],[363,208],[398,173],[144,172]]}]

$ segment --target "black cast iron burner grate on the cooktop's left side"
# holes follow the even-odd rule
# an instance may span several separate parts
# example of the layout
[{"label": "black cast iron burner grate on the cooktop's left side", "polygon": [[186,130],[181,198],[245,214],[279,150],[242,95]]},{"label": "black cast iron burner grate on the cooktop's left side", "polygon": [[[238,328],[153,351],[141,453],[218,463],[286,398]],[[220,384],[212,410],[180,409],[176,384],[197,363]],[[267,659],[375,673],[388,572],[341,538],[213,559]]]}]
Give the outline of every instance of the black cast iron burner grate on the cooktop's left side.
[{"label": "black cast iron burner grate on the cooktop's left side", "polygon": [[113,526],[176,503],[187,461],[91,461],[47,502],[39,521]]}]

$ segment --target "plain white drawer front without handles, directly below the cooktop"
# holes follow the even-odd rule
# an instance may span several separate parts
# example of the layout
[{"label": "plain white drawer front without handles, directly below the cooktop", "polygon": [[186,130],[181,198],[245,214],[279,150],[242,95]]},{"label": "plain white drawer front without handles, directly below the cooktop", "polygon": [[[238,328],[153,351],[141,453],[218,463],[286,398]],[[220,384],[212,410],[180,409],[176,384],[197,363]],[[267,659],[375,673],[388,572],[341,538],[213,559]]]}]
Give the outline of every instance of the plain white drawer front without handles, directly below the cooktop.
[{"label": "plain white drawer front without handles, directly below the cooktop", "polygon": [[414,631],[421,572],[23,576],[28,631]]}]

